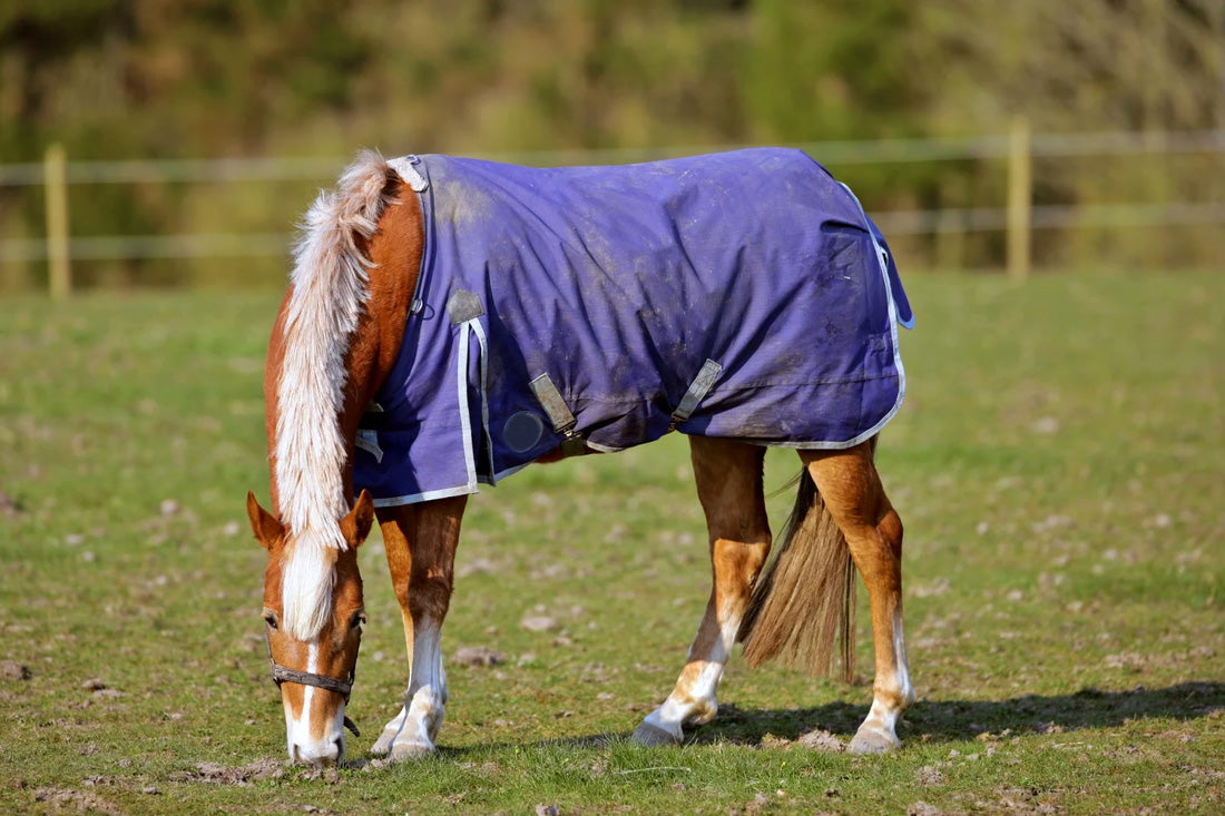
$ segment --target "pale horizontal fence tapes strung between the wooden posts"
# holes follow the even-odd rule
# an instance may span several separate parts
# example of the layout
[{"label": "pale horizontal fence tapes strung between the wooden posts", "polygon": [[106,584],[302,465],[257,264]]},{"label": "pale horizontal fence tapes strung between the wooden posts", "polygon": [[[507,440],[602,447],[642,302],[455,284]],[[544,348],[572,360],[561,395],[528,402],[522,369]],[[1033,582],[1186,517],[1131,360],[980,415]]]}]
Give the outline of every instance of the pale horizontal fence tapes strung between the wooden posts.
[{"label": "pale horizontal fence tapes strung between the wooden posts", "polygon": [[[539,167],[576,164],[621,164],[745,145],[616,148],[583,151],[535,151],[485,153],[479,158]],[[1009,136],[948,138],[889,138],[875,141],[828,141],[791,145],[829,165],[888,164],[965,159],[1003,159],[1009,156]],[[1225,130],[1178,132],[1036,134],[1029,145],[1034,158],[1126,157],[1144,154],[1225,154]],[[334,179],[344,167],[343,157],[322,158],[217,158],[217,159],[130,159],[69,162],[69,185],[98,184],[232,184],[276,181],[323,181]],[[47,183],[43,163],[0,164],[0,187],[33,187]],[[922,211],[873,212],[872,218],[888,234],[938,234],[1002,230],[1007,228],[1005,207],[967,207]],[[1076,229],[1107,227],[1197,225],[1225,223],[1225,201],[1171,203],[1039,205],[1030,208],[1031,229]],[[289,233],[225,233],[180,235],[97,235],[69,240],[74,260],[141,260],[287,256]],[[0,241],[0,262],[42,262],[49,250],[43,239]]]}]

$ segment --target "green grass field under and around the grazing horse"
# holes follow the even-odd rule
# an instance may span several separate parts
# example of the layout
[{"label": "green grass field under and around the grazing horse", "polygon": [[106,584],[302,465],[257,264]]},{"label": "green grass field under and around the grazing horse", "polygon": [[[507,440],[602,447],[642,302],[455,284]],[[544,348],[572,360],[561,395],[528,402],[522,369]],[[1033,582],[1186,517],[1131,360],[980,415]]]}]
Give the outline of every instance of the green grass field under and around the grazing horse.
[{"label": "green grass field under and around the grazing horse", "polygon": [[[451,665],[424,762],[366,761],[407,665],[381,542],[364,545],[364,736],[338,774],[281,765],[244,516],[247,489],[267,497],[278,294],[5,299],[0,812],[1221,812],[1225,276],[908,288],[909,395],[878,456],[919,691],[899,754],[800,739],[845,742],[866,712],[862,614],[856,685],[734,659],[688,744],[627,741],[708,592],[669,437],[473,500],[443,652],[507,658]],[[767,462],[768,488],[796,467]]]}]

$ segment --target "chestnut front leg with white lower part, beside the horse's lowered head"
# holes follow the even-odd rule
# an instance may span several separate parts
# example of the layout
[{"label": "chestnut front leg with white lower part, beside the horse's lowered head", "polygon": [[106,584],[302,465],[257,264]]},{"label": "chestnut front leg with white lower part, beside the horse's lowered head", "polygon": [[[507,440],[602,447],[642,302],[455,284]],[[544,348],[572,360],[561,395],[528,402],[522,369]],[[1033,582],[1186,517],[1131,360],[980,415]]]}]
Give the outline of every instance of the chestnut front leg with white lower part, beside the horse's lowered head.
[{"label": "chestnut front leg with white lower part, beside the horse's lowered head", "polygon": [[408,691],[404,706],[370,749],[392,760],[432,754],[447,705],[442,621],[453,587],[456,545],[467,496],[379,511],[387,566],[404,619]]}]

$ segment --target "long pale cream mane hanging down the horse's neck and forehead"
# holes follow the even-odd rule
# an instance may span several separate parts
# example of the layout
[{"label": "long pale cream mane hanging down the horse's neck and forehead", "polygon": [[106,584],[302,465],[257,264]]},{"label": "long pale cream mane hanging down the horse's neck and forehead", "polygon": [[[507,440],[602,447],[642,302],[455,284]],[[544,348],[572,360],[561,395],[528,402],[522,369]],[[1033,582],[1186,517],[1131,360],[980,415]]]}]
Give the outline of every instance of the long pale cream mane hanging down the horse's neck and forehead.
[{"label": "long pale cream mane hanging down the horse's neck and forehead", "polygon": [[[348,380],[345,355],[369,297],[371,262],[364,247],[387,205],[388,174],[379,153],[360,153],[334,192],[320,192],[294,249],[283,334],[273,338],[281,342],[282,363],[272,455],[281,521],[298,550],[290,570],[317,572],[330,549],[347,546],[337,524],[349,504],[343,477],[348,446],[338,417]],[[300,608],[322,614],[326,604],[318,600]],[[316,618],[301,621],[301,631],[315,627]]]}]

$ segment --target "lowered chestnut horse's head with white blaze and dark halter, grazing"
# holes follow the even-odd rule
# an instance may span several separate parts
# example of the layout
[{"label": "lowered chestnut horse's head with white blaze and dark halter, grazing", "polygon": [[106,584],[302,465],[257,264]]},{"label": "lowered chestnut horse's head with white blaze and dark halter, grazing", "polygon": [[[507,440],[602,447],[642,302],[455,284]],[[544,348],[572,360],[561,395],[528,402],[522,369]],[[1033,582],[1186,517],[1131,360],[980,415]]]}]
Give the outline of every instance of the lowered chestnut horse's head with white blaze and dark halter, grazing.
[{"label": "lowered chestnut horse's head with white blaze and dark halter, grazing", "polygon": [[263,620],[272,679],[285,709],[289,758],[337,765],[344,758],[344,727],[356,734],[344,706],[366,620],[356,550],[370,533],[374,502],[363,490],[337,522],[344,548],[295,537],[254,494],[247,494],[246,512],[256,540],[268,551]]}]

